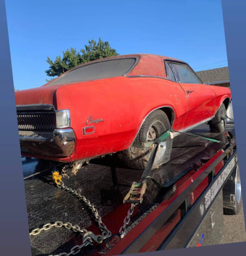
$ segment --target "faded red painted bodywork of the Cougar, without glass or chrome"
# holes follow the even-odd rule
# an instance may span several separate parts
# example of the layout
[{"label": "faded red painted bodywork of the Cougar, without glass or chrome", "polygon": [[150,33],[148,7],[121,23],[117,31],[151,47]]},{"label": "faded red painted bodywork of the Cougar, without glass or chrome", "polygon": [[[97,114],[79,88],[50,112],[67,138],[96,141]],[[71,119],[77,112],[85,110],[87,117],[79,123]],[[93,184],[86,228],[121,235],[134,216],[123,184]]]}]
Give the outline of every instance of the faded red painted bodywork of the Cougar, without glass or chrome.
[{"label": "faded red painted bodywork of the Cougar, without glass or chrome", "polygon": [[[170,57],[133,54],[107,59],[122,57],[138,58],[138,64],[127,74],[129,77],[68,85],[47,86],[47,83],[41,88],[15,93],[17,105],[52,104],[57,110],[70,110],[71,128],[76,136],[75,150],[71,158],[57,159],[50,155],[46,159],[73,161],[122,151],[130,147],[143,120],[154,109],[172,108],[175,114],[173,128],[182,130],[212,117],[226,97],[231,99],[228,88],[179,84],[165,79],[164,60],[172,59]],[[101,60],[94,62],[98,61]],[[191,96],[185,92],[188,89],[194,91]],[[90,126],[86,123],[90,116],[102,118],[103,122],[93,124],[95,133],[84,135],[82,130]]]}]

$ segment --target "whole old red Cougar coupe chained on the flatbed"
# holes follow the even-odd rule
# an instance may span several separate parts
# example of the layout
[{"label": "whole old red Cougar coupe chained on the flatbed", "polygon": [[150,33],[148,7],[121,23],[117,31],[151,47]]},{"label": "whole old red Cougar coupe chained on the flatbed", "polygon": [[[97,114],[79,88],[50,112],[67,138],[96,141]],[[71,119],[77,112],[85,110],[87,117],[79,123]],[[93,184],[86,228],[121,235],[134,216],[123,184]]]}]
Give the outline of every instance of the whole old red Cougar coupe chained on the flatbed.
[{"label": "whole old red Cougar coupe chained on the flatbed", "polygon": [[[153,141],[170,127],[207,123],[224,131],[228,88],[204,85],[181,60],[132,54],[79,65],[40,88],[17,91],[23,156],[62,162],[119,152],[144,168]],[[177,134],[174,134],[174,136]],[[170,159],[172,138],[159,145],[153,168]]]}]

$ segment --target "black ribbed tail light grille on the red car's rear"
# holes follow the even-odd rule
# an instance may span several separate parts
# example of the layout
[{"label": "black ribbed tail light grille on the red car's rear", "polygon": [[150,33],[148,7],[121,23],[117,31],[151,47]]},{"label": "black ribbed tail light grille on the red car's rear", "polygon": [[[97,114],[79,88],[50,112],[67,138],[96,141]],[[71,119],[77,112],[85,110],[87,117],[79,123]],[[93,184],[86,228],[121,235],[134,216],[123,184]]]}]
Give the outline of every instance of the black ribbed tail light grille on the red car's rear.
[{"label": "black ribbed tail light grille on the red car's rear", "polygon": [[18,130],[49,131],[55,129],[54,112],[17,112]]}]

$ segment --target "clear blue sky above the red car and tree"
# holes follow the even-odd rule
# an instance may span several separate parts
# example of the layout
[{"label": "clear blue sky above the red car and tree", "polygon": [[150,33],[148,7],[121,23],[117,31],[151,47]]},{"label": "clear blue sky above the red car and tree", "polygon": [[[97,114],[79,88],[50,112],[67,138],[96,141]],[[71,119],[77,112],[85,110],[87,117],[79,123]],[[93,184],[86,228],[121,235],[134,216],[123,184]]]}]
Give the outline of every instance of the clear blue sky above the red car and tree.
[{"label": "clear blue sky above the red car and tree", "polygon": [[99,37],[121,55],[175,57],[196,71],[228,65],[220,0],[10,0],[6,11],[17,89],[50,79],[47,56]]}]

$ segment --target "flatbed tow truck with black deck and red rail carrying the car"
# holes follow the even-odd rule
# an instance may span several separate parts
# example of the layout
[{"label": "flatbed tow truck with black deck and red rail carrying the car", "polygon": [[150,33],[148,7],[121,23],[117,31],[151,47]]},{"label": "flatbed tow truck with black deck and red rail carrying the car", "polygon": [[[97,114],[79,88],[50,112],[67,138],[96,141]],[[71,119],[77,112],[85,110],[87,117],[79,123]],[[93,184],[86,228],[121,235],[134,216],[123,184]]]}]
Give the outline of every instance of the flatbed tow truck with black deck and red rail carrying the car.
[{"label": "flatbed tow truck with black deck and red rail carrying the car", "polygon": [[[223,212],[236,214],[242,204],[234,125],[227,124],[226,131],[232,138],[210,133],[207,125],[191,131],[220,143],[175,137],[170,162],[151,171],[165,188],[148,180],[141,204],[123,199],[143,171],[126,168],[115,155],[91,160],[77,173],[63,169],[62,182],[70,190],[55,186],[50,163],[23,157],[32,254],[120,255],[218,244]],[[54,165],[62,170],[61,163]],[[105,230],[97,223],[104,223],[111,236],[86,243],[85,231],[101,235]]]}]

